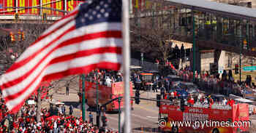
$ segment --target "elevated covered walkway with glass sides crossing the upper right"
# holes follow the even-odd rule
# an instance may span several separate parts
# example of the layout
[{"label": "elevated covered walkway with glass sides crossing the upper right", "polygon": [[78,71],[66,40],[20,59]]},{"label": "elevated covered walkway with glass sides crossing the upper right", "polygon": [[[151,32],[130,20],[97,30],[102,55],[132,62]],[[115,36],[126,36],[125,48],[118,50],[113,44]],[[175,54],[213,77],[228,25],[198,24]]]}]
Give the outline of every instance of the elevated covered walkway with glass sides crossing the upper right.
[{"label": "elevated covered walkway with glass sides crossing the upper right", "polygon": [[[170,25],[170,31],[174,31],[173,39],[194,45],[193,57],[196,60],[193,64],[200,64],[200,49],[215,49],[215,60],[219,60],[221,50],[256,57],[256,9],[204,0],[151,1],[162,2],[172,8],[135,12],[131,17],[133,36],[148,34],[148,27],[143,24],[138,27],[136,19],[143,22],[148,17],[166,16],[163,21]],[[196,69],[200,70],[200,67]]]}]

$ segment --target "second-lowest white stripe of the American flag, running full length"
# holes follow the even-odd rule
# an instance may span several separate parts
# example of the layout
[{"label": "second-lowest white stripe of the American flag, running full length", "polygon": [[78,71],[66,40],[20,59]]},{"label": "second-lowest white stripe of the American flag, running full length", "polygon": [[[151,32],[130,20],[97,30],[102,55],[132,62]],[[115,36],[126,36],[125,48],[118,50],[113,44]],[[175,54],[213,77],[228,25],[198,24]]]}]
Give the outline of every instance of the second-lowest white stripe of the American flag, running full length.
[{"label": "second-lowest white stripe of the American flag, running full length", "polygon": [[[99,47],[108,47],[108,46],[109,47],[110,46],[122,47],[122,45],[123,45],[122,39],[114,39],[114,38],[106,39],[106,38],[103,38],[103,39],[94,39],[94,40],[89,40],[89,41],[82,41],[80,43],[68,45],[66,47],[61,47],[61,48],[57,49],[56,51],[54,51],[53,53],[51,53],[37,67],[37,69],[35,69],[34,72],[31,73],[31,75],[28,76],[28,78],[24,79],[23,81],[21,81],[18,84],[15,84],[14,86],[10,86],[9,88],[6,88],[7,92],[3,92],[3,97],[7,97],[7,95],[16,94],[16,93],[22,91],[23,89],[20,88],[19,86],[27,85],[27,84],[31,83],[31,81],[39,74],[39,72],[42,70],[42,68],[44,68],[45,65],[48,65],[48,63],[50,62],[50,60],[52,60],[53,57],[54,58],[61,57],[61,56],[64,56],[64,55],[75,53],[75,52],[88,50],[88,49],[96,49],[96,48],[99,48]],[[38,60],[36,60],[36,61],[38,61]],[[34,65],[34,64],[31,63],[30,65]]]}]

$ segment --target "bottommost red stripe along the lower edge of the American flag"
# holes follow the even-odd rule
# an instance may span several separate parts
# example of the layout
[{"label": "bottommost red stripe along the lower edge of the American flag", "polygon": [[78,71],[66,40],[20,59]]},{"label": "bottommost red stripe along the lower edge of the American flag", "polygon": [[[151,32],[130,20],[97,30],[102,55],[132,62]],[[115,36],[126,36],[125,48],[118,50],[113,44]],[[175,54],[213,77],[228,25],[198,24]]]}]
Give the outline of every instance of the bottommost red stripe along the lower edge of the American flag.
[{"label": "bottommost red stripe along the lower edge of the American flag", "polygon": [[[91,70],[94,70],[95,68],[105,68],[105,69],[119,70],[121,68],[121,64],[120,63],[101,62],[101,63],[97,63],[97,64],[86,65],[86,66],[83,66],[83,67],[72,68],[72,69],[69,69],[69,70],[65,70],[63,72],[50,74],[48,76],[45,76],[43,78],[43,80],[45,80],[47,78],[49,80],[52,80],[52,79],[62,78],[64,76],[71,76],[71,75],[75,75],[75,74],[79,74],[79,73],[89,73]],[[36,90],[37,89],[35,89],[34,92]],[[33,93],[31,93],[31,94],[33,94]],[[20,104],[15,105],[15,107],[12,108],[12,110],[10,110],[10,111],[14,112],[14,113],[18,112],[18,110],[20,110],[21,106],[23,106],[25,100],[28,99],[29,97],[30,97],[30,95],[28,97],[26,97],[24,100],[22,100],[20,102]]]}]

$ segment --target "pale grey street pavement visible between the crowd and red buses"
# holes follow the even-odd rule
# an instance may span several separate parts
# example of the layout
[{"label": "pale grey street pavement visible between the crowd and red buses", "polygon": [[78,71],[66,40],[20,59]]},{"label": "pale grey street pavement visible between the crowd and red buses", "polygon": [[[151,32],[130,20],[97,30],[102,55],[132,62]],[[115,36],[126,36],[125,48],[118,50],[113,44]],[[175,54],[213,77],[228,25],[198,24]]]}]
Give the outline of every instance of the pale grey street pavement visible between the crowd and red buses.
[{"label": "pale grey street pavement visible between the crowd and red buses", "polygon": [[[73,85],[72,85],[73,86]],[[80,117],[82,112],[78,103],[78,89],[71,87],[69,95],[65,94],[65,89],[60,88],[59,92],[53,93],[53,99],[64,102],[66,106],[66,113],[69,113],[69,105],[74,105],[74,115]],[[154,92],[140,91],[140,96],[148,99],[155,99],[156,94]],[[43,102],[45,107],[48,106],[47,102]],[[94,115],[94,124],[96,123],[96,113],[91,112]],[[89,111],[86,111],[86,120],[89,120]],[[118,113],[107,113],[108,127],[115,131],[118,130]],[[158,125],[158,108],[156,102],[148,100],[140,100],[140,105],[136,105],[134,102],[134,110],[131,114],[132,119],[132,132],[156,132]]]}]

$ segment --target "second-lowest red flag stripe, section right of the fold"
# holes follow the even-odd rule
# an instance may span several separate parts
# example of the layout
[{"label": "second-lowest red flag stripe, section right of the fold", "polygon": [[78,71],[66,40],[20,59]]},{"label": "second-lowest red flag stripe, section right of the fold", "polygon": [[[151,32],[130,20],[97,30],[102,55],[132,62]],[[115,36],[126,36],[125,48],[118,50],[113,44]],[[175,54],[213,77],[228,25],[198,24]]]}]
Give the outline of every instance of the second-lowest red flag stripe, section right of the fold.
[{"label": "second-lowest red flag stripe, section right of the fold", "polygon": [[97,49],[83,50],[83,51],[75,52],[75,53],[72,53],[69,55],[56,57],[53,60],[51,60],[49,64],[60,63],[60,62],[72,60],[72,59],[78,58],[78,57],[86,57],[86,56],[90,56],[90,55],[94,55],[94,54],[102,54],[102,53],[107,53],[107,52],[116,53],[116,54],[121,55],[121,47],[100,47]]}]

